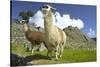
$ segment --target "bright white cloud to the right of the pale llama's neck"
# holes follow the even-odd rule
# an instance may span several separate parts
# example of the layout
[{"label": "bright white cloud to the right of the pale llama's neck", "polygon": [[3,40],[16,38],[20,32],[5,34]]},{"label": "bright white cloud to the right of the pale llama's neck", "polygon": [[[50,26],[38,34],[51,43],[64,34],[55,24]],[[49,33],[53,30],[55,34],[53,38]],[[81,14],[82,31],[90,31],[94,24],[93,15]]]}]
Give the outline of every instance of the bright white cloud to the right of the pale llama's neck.
[{"label": "bright white cloud to the right of the pale llama's neck", "polygon": [[59,12],[56,12],[57,26],[60,28],[65,28],[68,26],[78,27],[82,29],[84,27],[84,23],[81,19],[71,19],[69,14],[60,15]]}]

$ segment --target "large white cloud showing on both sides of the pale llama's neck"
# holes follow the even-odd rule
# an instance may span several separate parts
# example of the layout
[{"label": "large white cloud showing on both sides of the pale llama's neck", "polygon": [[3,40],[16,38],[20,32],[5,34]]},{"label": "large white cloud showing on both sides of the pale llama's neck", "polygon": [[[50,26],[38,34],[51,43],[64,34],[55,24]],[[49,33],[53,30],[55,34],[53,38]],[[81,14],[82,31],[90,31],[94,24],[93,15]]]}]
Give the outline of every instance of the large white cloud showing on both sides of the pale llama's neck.
[{"label": "large white cloud showing on both sides of the pale llama's neck", "polygon": [[[68,27],[70,25],[73,27],[78,27],[79,29],[84,28],[84,23],[81,19],[71,19],[69,14],[63,14],[63,16],[61,16],[59,12],[56,12],[55,15],[56,15],[55,24],[61,29]],[[37,13],[29,19],[29,22],[35,23],[37,26],[41,26],[44,28],[44,20],[42,12],[40,10],[37,11]]]}]

